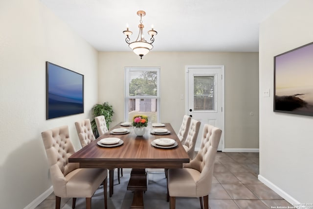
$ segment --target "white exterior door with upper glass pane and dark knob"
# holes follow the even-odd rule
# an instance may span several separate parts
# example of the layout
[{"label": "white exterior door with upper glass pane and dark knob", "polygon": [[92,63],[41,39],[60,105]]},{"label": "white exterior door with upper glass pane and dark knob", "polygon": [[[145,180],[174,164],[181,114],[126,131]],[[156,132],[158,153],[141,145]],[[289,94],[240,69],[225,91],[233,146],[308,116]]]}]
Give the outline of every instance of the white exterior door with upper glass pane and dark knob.
[{"label": "white exterior door with upper glass pane and dark knob", "polygon": [[186,67],[187,114],[201,121],[195,150],[200,149],[203,124],[220,128],[218,150],[224,150],[224,66]]}]

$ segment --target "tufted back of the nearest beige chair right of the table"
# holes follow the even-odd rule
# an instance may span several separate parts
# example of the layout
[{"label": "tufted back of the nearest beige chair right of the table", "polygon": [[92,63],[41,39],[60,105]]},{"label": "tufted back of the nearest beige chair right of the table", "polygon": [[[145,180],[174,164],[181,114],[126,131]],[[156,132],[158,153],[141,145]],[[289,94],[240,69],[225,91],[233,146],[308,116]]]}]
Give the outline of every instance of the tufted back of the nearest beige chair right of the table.
[{"label": "tufted back of the nearest beige chair right of the table", "polygon": [[195,159],[184,164],[184,168],[193,168],[201,172],[196,184],[204,194],[208,194],[211,189],[214,161],[221,135],[221,129],[204,124],[200,150]]}]

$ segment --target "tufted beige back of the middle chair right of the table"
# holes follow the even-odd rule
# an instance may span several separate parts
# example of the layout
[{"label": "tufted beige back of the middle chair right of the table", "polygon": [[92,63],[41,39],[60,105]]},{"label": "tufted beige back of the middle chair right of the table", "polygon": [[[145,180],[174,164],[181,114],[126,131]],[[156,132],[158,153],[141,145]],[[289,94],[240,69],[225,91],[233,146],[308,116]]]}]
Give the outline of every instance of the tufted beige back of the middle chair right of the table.
[{"label": "tufted beige back of the middle chair right of the table", "polygon": [[196,141],[199,134],[201,122],[195,119],[190,120],[190,126],[186,140],[182,143],[190,159],[194,159]]}]

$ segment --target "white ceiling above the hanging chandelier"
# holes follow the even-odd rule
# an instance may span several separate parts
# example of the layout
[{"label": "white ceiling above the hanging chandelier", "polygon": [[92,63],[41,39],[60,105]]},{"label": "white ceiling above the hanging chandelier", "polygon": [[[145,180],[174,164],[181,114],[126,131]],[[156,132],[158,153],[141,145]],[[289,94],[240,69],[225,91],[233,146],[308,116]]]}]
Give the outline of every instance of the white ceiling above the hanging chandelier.
[{"label": "white ceiling above the hanging chandelier", "polygon": [[122,33],[145,39],[154,25],[154,51],[259,51],[259,23],[288,0],[41,0],[99,51],[130,51]]}]

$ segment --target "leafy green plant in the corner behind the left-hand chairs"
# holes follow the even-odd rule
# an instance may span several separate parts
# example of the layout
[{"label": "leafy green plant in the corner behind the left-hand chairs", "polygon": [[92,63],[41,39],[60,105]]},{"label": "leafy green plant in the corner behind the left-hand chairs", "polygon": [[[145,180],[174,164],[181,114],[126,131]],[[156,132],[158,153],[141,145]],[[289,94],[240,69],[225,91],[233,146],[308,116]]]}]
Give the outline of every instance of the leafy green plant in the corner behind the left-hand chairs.
[{"label": "leafy green plant in the corner behind the left-hand chairs", "polygon": [[[103,104],[95,104],[92,110],[94,117],[104,116],[104,118],[106,119],[107,127],[109,129],[110,123],[112,122],[112,116],[114,113],[112,105],[109,105],[108,102],[104,102]],[[91,121],[91,129],[94,136],[97,138],[99,136],[99,133],[95,119]]]}]

